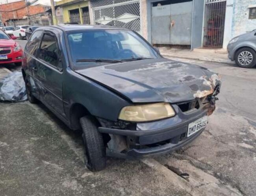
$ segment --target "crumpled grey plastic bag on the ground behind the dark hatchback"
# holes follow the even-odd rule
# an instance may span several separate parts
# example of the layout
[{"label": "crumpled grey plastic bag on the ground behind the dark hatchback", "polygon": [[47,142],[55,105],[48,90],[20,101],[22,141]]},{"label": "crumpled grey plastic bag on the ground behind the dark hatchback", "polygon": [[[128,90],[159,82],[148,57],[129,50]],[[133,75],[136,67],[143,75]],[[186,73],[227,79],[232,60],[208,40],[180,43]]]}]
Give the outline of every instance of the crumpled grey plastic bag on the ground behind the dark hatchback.
[{"label": "crumpled grey plastic bag on the ground behind the dark hatchback", "polygon": [[21,102],[27,100],[25,82],[20,71],[0,79],[0,101]]}]

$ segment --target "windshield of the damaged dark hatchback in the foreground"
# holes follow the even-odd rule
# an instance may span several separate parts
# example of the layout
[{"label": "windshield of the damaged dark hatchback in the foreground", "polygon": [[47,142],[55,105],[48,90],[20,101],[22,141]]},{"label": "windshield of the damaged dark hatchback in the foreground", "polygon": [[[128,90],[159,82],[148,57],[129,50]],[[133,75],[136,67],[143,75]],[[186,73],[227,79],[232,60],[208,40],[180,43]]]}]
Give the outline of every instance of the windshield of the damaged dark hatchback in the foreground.
[{"label": "windshield of the damaged dark hatchback in the foreground", "polygon": [[90,29],[68,33],[67,36],[72,62],[78,68],[93,65],[94,60],[97,60],[97,65],[99,62],[158,58],[153,47],[129,30]]}]

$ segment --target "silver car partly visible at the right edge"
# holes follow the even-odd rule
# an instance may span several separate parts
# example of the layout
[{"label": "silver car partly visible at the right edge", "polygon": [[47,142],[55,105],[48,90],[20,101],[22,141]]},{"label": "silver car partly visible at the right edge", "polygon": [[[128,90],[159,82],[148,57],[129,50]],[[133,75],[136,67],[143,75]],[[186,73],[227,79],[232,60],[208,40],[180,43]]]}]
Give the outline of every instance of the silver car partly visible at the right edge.
[{"label": "silver car partly visible at the right edge", "polygon": [[235,60],[239,67],[252,68],[256,65],[256,29],[230,40],[228,58]]}]

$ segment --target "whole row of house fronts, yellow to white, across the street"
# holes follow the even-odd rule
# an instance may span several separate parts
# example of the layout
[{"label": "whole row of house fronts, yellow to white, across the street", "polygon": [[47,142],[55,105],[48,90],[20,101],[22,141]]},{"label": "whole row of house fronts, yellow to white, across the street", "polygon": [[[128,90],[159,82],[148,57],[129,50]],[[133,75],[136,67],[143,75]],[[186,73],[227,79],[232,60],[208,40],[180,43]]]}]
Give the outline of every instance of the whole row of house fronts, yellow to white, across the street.
[{"label": "whole row of house fronts, yellow to white, across the street", "polygon": [[226,48],[256,29],[255,0],[62,0],[59,23],[132,29],[156,46]]}]

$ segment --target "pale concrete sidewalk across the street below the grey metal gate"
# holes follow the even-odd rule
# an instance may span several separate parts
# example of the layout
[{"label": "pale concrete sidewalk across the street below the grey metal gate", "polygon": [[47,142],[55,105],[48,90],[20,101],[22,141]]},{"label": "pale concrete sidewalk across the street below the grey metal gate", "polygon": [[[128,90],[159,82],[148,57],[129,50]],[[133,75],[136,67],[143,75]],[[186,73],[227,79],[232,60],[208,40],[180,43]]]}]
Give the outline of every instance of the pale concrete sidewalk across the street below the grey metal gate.
[{"label": "pale concrete sidewalk across the street below the grey metal gate", "polygon": [[161,55],[167,58],[177,57],[215,63],[235,64],[235,62],[232,62],[228,59],[227,52],[223,50],[194,49],[191,51],[189,49],[176,49],[167,47],[160,47],[159,49]]}]

